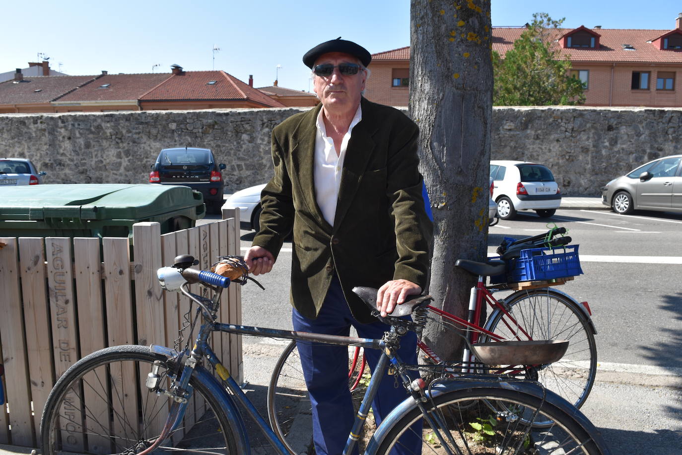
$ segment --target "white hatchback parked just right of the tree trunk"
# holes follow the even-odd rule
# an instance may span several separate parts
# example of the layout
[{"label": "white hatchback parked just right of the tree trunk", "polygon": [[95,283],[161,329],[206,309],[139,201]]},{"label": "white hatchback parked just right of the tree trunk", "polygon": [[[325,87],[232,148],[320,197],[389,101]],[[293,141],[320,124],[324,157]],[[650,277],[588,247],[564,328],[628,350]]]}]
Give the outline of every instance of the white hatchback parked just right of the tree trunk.
[{"label": "white hatchback parked just right of the tree trunk", "polygon": [[494,182],[492,199],[503,220],[514,219],[519,210],[535,210],[538,216],[549,218],[561,205],[559,185],[542,164],[492,160],[490,177]]}]

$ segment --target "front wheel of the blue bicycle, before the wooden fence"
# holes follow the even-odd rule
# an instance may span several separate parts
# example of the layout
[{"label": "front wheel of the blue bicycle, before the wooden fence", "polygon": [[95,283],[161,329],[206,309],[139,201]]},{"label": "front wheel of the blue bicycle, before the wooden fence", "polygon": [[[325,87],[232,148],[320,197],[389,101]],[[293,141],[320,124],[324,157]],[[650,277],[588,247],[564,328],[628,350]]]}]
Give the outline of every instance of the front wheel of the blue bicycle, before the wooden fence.
[{"label": "front wheel of the blue bicycle, before the wooden fence", "polygon": [[[154,441],[166,421],[170,398],[145,385],[155,361],[162,385],[177,366],[138,345],[102,349],[72,365],[46,401],[42,453],[134,454]],[[239,454],[237,432],[207,385],[194,376],[184,421],[156,452]],[[193,428],[190,423],[196,422]],[[199,424],[200,423],[200,424]],[[201,447],[200,447],[201,446]]]}]

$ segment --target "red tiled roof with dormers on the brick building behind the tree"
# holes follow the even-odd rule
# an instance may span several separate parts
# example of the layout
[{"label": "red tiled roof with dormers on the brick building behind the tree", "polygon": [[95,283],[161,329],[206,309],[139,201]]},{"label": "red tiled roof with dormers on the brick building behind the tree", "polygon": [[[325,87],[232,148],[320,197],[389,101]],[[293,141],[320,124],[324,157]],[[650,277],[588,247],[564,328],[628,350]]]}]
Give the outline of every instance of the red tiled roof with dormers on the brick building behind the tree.
[{"label": "red tiled roof with dormers on the brick building behind the tree", "polygon": [[[578,27],[579,29],[580,27]],[[493,27],[492,48],[504,57],[507,50],[514,47],[514,41],[520,38],[524,27]],[[591,29],[599,36],[599,48],[561,48],[559,38],[576,29],[557,29],[552,31],[552,40],[562,55],[569,55],[574,62],[584,63],[682,63],[682,50],[660,50],[653,41],[670,30],[642,30],[642,29]],[[625,50],[623,44],[629,44],[634,50]],[[398,48],[372,54],[375,60],[406,60],[410,58],[410,48]],[[371,65],[371,63],[370,63]]]}]

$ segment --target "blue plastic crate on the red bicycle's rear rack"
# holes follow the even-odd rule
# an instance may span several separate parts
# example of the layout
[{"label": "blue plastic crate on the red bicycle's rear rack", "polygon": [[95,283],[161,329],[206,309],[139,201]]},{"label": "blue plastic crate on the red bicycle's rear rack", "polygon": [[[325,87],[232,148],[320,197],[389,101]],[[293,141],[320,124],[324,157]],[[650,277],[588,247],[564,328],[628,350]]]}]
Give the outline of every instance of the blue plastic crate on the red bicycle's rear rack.
[{"label": "blue plastic crate on the red bicycle's rear rack", "polygon": [[507,274],[490,277],[490,284],[553,280],[582,274],[578,245],[561,248],[528,248],[507,264]]}]

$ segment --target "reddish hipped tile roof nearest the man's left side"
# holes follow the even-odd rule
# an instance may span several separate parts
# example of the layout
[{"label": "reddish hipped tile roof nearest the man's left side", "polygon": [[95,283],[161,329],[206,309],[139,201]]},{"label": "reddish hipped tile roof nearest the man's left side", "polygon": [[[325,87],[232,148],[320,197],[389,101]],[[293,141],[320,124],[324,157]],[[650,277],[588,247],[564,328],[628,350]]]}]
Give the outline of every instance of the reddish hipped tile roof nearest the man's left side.
[{"label": "reddish hipped tile roof nearest the man's left side", "polygon": [[[213,80],[216,82],[209,85]],[[140,100],[249,100],[263,106],[284,107],[284,104],[224,71],[186,71],[173,74],[141,96]]]}]

